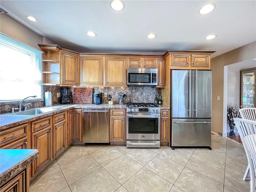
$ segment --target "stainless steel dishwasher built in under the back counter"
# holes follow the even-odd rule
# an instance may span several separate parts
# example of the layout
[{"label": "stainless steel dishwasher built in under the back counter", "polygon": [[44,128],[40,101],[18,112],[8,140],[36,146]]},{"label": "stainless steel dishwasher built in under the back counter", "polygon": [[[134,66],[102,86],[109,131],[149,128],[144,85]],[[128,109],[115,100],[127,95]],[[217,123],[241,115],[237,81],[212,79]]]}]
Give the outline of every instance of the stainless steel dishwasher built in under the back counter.
[{"label": "stainless steel dishwasher built in under the back counter", "polygon": [[83,109],[83,142],[109,144],[109,109]]}]

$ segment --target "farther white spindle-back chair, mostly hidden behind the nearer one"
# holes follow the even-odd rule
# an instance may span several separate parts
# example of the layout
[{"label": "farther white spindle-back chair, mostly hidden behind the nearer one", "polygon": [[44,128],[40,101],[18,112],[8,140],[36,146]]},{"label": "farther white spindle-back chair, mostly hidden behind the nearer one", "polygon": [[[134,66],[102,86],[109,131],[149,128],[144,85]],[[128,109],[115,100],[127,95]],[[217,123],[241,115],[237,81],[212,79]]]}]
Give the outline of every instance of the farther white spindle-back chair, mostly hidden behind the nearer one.
[{"label": "farther white spindle-back chair, mostly hidden behind the nearer one", "polygon": [[[252,108],[252,107],[242,108],[242,109],[239,109],[239,113],[242,119],[256,121],[256,108]],[[249,163],[248,163],[243,180],[245,181],[249,179],[250,179],[250,169],[249,169]]]}]

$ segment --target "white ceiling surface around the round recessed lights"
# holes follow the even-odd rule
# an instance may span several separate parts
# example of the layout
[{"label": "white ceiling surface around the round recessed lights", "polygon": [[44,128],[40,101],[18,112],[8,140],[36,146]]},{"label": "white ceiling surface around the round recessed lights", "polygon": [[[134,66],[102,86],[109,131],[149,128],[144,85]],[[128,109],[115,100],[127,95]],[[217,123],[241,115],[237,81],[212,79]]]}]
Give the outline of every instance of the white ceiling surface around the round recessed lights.
[{"label": "white ceiling surface around the round recessed lights", "polygon": [[[212,57],[256,41],[255,0],[123,0],[116,12],[110,0],[1,0],[10,16],[77,52],[128,53],[210,50]],[[199,9],[215,3],[213,12]],[[26,16],[34,16],[32,22]],[[86,32],[96,32],[89,37]],[[154,39],[147,34],[157,35]],[[212,40],[204,38],[216,34]]]}]

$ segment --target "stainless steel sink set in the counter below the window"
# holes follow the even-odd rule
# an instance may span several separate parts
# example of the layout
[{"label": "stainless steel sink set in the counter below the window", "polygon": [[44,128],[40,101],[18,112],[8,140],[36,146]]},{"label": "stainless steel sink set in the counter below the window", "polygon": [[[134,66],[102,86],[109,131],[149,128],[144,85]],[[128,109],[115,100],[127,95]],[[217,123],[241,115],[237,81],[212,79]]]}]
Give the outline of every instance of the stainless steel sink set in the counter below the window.
[{"label": "stainless steel sink set in the counter below the window", "polygon": [[5,116],[35,116],[35,115],[55,111],[58,109],[59,108],[33,108],[33,109],[26,110],[26,111],[19,111],[19,112],[2,114],[2,115],[5,115]]}]

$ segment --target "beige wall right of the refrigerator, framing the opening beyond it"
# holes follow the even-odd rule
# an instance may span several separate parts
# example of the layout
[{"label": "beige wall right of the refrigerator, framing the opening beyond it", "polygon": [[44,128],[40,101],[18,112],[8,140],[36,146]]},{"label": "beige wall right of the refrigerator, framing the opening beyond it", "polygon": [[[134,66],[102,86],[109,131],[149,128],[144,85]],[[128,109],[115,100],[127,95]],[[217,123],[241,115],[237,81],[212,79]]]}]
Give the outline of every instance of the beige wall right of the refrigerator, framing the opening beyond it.
[{"label": "beige wall right of the refrigerator, framing the opening beyond it", "polygon": [[[256,41],[211,59],[212,68],[212,131],[223,129],[224,66],[256,58]],[[217,101],[220,96],[220,101]]]}]

